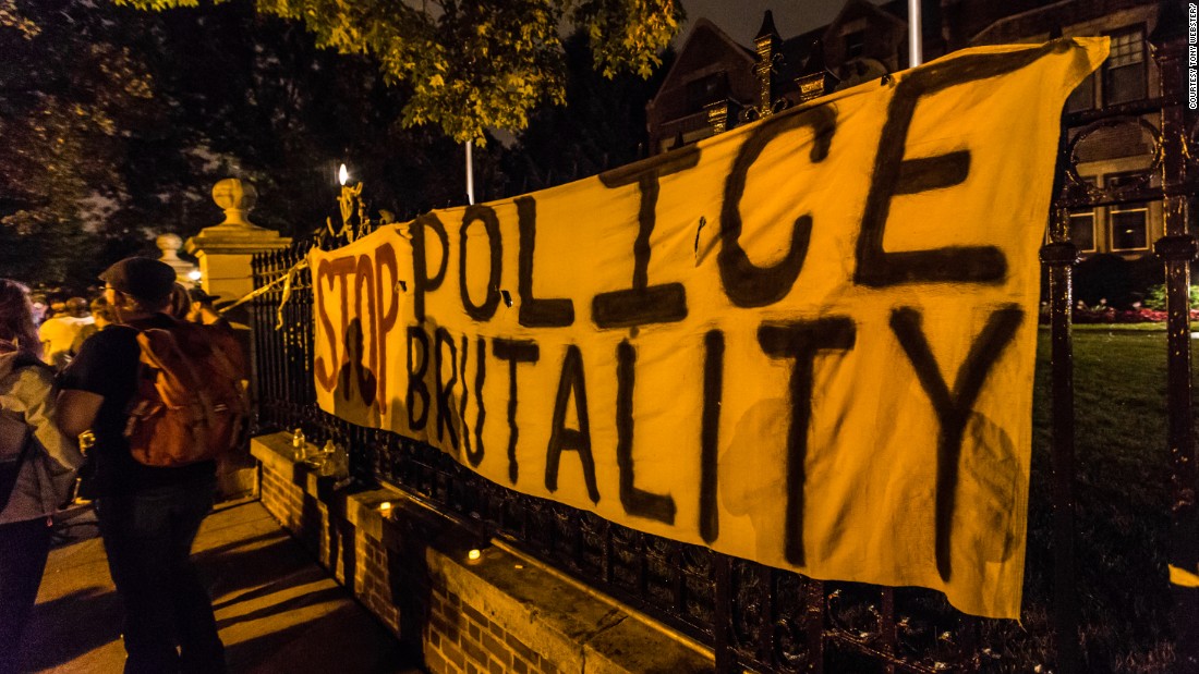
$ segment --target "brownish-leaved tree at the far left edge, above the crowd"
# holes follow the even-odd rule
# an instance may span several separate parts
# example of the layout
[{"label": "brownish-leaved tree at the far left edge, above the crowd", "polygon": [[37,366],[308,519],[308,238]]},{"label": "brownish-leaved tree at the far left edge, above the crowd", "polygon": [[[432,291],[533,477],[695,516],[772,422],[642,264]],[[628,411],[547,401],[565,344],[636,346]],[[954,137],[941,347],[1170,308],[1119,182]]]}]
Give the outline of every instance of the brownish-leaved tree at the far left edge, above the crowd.
[{"label": "brownish-leaved tree at the far left edge, above the crowd", "polygon": [[129,202],[112,168],[122,134],[157,110],[147,71],[103,25],[55,0],[30,10],[0,2],[0,273],[85,287],[98,269],[82,250],[129,249],[107,236]]}]

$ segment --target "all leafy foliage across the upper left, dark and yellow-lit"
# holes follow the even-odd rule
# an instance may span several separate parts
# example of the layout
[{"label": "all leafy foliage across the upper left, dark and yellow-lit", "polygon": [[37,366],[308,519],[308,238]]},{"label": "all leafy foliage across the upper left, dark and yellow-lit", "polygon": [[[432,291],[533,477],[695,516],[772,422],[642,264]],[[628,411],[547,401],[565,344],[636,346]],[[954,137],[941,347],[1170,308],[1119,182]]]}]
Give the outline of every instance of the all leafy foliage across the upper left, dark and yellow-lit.
[{"label": "all leafy foliage across the upper left, dark and yellow-lit", "polygon": [[[210,190],[229,176],[258,188],[255,223],[290,236],[307,236],[336,212],[335,171],[342,162],[354,180],[366,182],[364,196],[375,210],[404,218],[462,204],[463,148],[436,125],[417,123],[440,120],[420,113],[420,96],[457,97],[457,111],[450,113],[475,125],[495,102],[476,97],[478,87],[511,83],[504,95],[510,98],[499,99],[516,109],[549,86],[550,79],[538,77],[558,78],[558,99],[547,97],[513,117],[513,126],[529,123],[516,150],[499,142],[475,148],[475,183],[484,199],[536,189],[550,175],[560,180],[634,159],[644,102],[656,81],[635,73],[604,78],[585,32],[549,49],[559,34],[538,32],[538,22],[553,23],[565,5],[547,10],[546,22],[531,14],[516,20],[519,7],[532,11],[538,2],[501,4],[494,12],[463,2],[451,7],[453,35],[441,29],[452,24],[448,18],[434,20],[432,10],[409,7],[416,23],[408,29],[424,25],[433,53],[450,63],[441,74],[444,91],[435,92],[432,75],[392,77],[362,55],[367,50],[347,55],[318,47],[307,22],[281,18],[282,10],[264,12],[261,0],[159,4],[182,7],[170,12],[92,0],[0,0],[0,277],[84,292],[113,261],[156,256],[156,235],[186,238],[219,221]],[[289,11],[308,5],[293,2]],[[326,5],[326,16],[354,13],[329,25],[335,42],[366,40],[355,26],[370,24],[370,12],[394,8]],[[597,11],[610,6],[573,11],[590,17],[578,20],[600,20]],[[471,17],[486,20],[471,24]],[[372,30],[394,29],[386,23]],[[528,41],[514,47],[513,36]],[[469,48],[450,48],[458,44]],[[406,47],[394,45],[390,54],[398,59]],[[522,80],[499,61],[466,59],[471,50],[526,48],[549,69],[534,61],[538,67],[530,66]],[[415,59],[435,68],[423,50],[406,54],[412,68]],[[623,67],[640,69],[637,62]],[[453,68],[475,68],[475,79],[453,77]],[[504,73],[508,80],[499,79]],[[424,95],[415,91],[420,86]],[[548,105],[562,98],[571,108]],[[477,103],[481,113],[471,108],[484,101]]]}]

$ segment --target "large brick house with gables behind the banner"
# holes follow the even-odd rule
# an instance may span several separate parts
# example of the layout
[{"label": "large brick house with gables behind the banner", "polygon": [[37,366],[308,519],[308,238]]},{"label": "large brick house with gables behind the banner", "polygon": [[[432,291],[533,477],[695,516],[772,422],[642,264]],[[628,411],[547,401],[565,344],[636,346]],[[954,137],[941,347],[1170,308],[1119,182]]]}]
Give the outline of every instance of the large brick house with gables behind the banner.
[{"label": "large brick house with gables behind the banner", "polygon": [[[1135,200],[1157,186],[1158,73],[1146,37],[1153,0],[922,0],[924,60],[966,47],[1043,42],[1059,36],[1111,38],[1111,53],[1066,104],[1077,184],[1071,236],[1083,253],[1147,255],[1162,231],[1159,200]],[[657,96],[646,105],[650,152],[665,152],[837,89],[906,68],[908,2],[846,0],[837,18],[783,38],[767,11],[754,44],[741,45],[698,19]],[[1089,126],[1101,110],[1129,113]],[[1115,204],[1120,201],[1120,204]]]}]

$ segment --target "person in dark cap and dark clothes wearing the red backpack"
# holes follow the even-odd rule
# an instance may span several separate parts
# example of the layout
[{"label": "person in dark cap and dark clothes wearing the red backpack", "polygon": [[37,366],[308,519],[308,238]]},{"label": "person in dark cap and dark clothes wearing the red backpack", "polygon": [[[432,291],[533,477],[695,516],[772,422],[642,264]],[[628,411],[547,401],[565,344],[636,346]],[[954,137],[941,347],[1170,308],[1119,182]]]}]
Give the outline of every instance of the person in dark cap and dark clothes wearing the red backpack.
[{"label": "person in dark cap and dark clothes wearing the red backpack", "polygon": [[126,673],[225,670],[212,601],[191,560],[212,508],[216,462],[139,463],[125,438],[140,372],[140,329],[170,328],[175,271],[127,257],[101,274],[116,324],[84,342],[60,377],[59,424],[96,438],[96,512],[116,593],[125,603]]}]

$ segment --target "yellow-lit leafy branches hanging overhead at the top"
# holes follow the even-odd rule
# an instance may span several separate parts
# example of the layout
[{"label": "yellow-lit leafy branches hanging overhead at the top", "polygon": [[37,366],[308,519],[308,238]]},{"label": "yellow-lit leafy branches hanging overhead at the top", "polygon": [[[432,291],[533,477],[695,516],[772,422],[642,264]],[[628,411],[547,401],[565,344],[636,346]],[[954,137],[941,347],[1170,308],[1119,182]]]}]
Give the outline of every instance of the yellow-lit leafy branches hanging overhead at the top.
[{"label": "yellow-lit leafy branches hanging overhead at the top", "polygon": [[[199,0],[112,0],[141,10]],[[216,0],[222,2],[224,0]],[[541,102],[565,102],[560,26],[583,29],[598,71],[647,78],[682,19],[675,0],[258,0],[264,14],[302,22],[318,47],[369,55],[403,84],[406,126],[433,123],[458,142],[484,129],[519,132]]]}]

